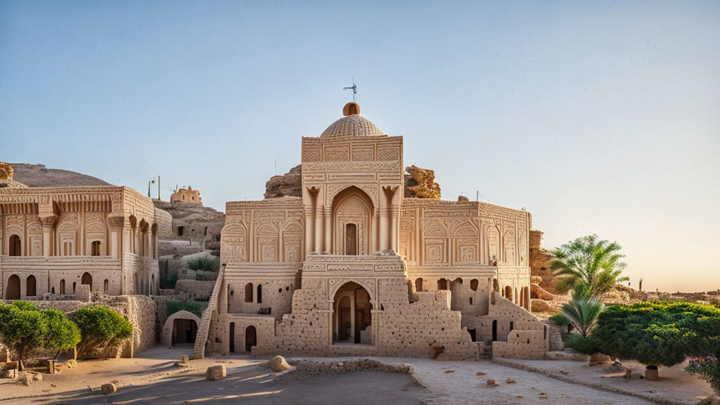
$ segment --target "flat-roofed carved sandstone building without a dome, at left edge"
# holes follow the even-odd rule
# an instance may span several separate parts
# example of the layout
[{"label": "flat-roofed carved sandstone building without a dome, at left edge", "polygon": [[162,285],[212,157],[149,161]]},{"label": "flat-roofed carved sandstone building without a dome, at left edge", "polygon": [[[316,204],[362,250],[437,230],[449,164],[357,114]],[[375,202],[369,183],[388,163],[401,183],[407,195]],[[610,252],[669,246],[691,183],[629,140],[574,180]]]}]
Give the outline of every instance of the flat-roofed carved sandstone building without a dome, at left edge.
[{"label": "flat-roofed carved sandstone building without a dome, at left edge", "polygon": [[159,214],[127,187],[0,188],[2,298],[158,293]]}]

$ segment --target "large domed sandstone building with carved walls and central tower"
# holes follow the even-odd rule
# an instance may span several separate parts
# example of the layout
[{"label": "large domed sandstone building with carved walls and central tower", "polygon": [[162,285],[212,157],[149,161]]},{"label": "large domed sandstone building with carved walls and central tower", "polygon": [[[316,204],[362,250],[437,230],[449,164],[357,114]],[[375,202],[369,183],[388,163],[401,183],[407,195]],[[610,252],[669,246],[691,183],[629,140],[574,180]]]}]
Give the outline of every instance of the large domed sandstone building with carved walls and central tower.
[{"label": "large domed sandstone building with carved walls and central tower", "polygon": [[302,197],[227,203],[195,356],[544,357],[531,215],[405,195],[402,137],[343,115],[302,138]]}]

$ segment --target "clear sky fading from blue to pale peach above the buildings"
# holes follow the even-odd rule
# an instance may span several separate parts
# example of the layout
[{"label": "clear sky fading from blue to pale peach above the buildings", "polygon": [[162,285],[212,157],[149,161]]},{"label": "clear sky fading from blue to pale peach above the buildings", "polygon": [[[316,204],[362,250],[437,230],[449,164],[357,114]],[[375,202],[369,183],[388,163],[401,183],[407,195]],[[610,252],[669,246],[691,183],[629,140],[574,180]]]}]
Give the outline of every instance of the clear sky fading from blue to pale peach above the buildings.
[{"label": "clear sky fading from blue to pale peach above the buildings", "polygon": [[718,1],[0,1],[0,161],[224,210],[353,78],[444,198],[617,240],[634,287],[720,288]]}]

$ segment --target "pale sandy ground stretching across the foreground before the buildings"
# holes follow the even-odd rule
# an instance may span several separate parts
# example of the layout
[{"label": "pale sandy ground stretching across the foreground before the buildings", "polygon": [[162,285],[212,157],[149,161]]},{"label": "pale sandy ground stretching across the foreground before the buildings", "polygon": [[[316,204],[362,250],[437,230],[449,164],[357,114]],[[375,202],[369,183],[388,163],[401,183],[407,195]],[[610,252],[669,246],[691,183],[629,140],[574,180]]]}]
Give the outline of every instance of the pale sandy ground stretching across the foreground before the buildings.
[{"label": "pale sandy ground stretching across the foreground before the buildings", "polygon": [[[341,375],[297,375],[297,378],[273,380],[274,374],[261,362],[247,356],[211,357],[192,360],[189,368],[176,368],[181,355],[192,347],[155,347],[135,359],[91,360],[58,375],[45,375],[42,382],[22,386],[0,379],[0,404],[651,404],[645,399],[603,389],[591,388],[551,378],[546,373],[561,373],[588,381],[617,386],[628,391],[654,391],[658,396],[678,403],[693,404],[697,395],[707,395],[703,381],[683,375],[681,368],[661,369],[662,380],[602,378],[602,368],[588,368],[585,362],[552,360],[534,362],[512,360],[541,372],[518,370],[490,360],[451,362],[426,359],[378,357],[385,363],[413,366],[410,375],[364,370]],[[338,361],[340,359],[289,357],[297,360]],[[207,381],[209,365],[223,363],[228,377]],[[478,372],[485,375],[477,375]],[[677,373],[676,373],[677,372]],[[297,372],[295,372],[297,373]],[[565,375],[565,374],[562,374]],[[487,386],[492,378],[499,386]],[[506,383],[513,378],[516,383]],[[118,392],[103,396],[99,386],[114,382]],[[652,386],[648,386],[652,383]],[[704,384],[704,386],[703,386]],[[91,391],[90,388],[96,391]],[[705,388],[704,391],[697,391]],[[547,399],[541,399],[541,394]]]}]

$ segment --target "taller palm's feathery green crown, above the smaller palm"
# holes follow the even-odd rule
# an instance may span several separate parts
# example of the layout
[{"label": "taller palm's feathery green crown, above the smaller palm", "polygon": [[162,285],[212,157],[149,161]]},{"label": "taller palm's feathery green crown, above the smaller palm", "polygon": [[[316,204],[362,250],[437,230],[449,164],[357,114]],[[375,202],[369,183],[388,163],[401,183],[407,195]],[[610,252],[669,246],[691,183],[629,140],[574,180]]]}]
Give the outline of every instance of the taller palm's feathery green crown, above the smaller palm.
[{"label": "taller palm's feathery green crown, above the smaller palm", "polygon": [[[560,292],[576,289],[579,296],[599,298],[618,282],[629,280],[621,273],[626,264],[617,242],[600,241],[597,235],[583,236],[552,250],[550,270]],[[575,294],[574,294],[575,295]]]}]

